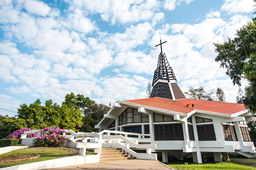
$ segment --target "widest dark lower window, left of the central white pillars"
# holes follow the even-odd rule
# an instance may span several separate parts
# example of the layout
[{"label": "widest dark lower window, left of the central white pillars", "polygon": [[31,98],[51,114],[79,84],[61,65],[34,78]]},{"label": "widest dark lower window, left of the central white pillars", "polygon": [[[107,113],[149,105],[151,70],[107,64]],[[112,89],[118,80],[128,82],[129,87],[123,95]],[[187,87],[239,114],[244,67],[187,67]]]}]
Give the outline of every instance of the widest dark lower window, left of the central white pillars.
[{"label": "widest dark lower window, left of the central white pillars", "polygon": [[155,141],[184,140],[181,123],[154,125]]}]

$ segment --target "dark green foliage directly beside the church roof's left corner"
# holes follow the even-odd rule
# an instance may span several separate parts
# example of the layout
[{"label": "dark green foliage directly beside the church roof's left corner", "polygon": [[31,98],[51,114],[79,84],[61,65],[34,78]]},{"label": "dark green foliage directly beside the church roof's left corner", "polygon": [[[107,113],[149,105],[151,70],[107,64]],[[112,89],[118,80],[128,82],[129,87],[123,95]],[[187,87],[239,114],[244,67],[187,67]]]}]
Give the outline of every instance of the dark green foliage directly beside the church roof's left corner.
[{"label": "dark green foliage directly beside the church roof's left corner", "polygon": [[92,103],[87,108],[84,108],[84,125],[81,127],[82,132],[98,132],[94,128],[95,125],[103,118],[105,113],[108,113],[110,107],[103,104]]}]

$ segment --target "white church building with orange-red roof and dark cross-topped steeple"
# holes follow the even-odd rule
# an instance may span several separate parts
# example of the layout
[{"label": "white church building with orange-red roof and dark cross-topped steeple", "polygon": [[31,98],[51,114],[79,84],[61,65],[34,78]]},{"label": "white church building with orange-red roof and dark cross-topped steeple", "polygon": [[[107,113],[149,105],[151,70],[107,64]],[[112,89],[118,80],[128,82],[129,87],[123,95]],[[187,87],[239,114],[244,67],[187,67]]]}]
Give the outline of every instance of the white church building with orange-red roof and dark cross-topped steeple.
[{"label": "white church building with orange-red roof and dark cross-topped steeple", "polygon": [[[95,127],[150,134],[136,140],[138,144],[156,144],[152,152],[160,153],[163,162],[173,156],[202,163],[202,155],[208,153],[221,161],[228,159],[228,152],[256,158],[247,127],[247,122],[256,118],[243,104],[187,99],[163,54],[163,43],[160,40],[150,98],[118,100]],[[135,140],[133,137],[128,136]]]}]

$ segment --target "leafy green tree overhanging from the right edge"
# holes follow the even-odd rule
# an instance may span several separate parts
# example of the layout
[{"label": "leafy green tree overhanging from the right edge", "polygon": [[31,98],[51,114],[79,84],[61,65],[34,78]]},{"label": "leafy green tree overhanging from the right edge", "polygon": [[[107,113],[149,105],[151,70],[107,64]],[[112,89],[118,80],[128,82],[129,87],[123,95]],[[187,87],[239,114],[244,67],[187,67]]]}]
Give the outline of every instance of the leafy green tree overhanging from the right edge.
[{"label": "leafy green tree overhanging from the right edge", "polygon": [[256,18],[240,28],[233,40],[229,38],[223,44],[215,44],[222,68],[233,84],[241,86],[241,79],[246,79],[249,86],[245,88],[244,105],[251,113],[256,113]]}]

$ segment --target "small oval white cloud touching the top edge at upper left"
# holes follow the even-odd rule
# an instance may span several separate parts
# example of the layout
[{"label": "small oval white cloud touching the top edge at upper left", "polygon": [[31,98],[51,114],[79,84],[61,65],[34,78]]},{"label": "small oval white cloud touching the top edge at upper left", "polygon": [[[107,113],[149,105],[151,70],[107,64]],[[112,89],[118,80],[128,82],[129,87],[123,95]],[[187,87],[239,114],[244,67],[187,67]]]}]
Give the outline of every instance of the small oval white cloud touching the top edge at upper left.
[{"label": "small oval white cloud touching the top edge at upper left", "polygon": [[41,16],[46,16],[51,11],[51,8],[47,4],[36,0],[26,0],[24,7],[29,13]]}]

